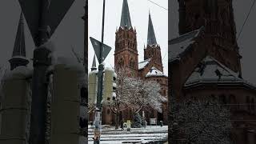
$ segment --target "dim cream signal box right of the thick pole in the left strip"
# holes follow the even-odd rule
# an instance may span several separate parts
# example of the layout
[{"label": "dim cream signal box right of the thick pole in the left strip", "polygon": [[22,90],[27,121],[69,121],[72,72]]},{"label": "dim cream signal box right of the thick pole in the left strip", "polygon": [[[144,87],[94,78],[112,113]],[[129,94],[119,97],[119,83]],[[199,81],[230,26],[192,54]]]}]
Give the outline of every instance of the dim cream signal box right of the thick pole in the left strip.
[{"label": "dim cream signal box right of the thick pole in the left strip", "polygon": [[54,66],[50,144],[78,144],[80,90],[78,71]]}]

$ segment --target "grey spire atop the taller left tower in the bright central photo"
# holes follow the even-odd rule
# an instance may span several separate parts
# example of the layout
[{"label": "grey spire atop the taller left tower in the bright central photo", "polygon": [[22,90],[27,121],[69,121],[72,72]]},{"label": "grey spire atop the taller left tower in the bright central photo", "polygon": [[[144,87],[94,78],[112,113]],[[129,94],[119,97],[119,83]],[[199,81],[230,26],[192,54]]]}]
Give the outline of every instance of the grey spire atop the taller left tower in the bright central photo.
[{"label": "grey spire atop the taller left tower in the bright central photo", "polygon": [[123,2],[122,2],[122,16],[121,16],[120,26],[122,28],[125,28],[127,26],[128,29],[130,27],[132,27],[131,26],[131,21],[130,21],[130,12],[129,12],[129,6],[128,6],[127,0],[123,0]]}]

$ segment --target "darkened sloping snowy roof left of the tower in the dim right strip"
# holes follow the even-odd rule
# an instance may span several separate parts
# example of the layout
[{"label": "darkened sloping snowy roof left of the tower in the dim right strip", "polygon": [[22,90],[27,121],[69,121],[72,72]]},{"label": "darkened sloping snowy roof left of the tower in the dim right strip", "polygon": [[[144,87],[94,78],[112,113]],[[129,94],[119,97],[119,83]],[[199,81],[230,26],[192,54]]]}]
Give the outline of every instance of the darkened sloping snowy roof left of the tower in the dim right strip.
[{"label": "darkened sloping snowy roof left of the tower in the dim right strip", "polygon": [[197,38],[203,29],[204,28],[201,27],[198,30],[191,31],[186,34],[182,34],[178,38],[171,39],[168,47],[168,61],[171,62],[179,59],[181,54],[194,43],[194,38]]}]

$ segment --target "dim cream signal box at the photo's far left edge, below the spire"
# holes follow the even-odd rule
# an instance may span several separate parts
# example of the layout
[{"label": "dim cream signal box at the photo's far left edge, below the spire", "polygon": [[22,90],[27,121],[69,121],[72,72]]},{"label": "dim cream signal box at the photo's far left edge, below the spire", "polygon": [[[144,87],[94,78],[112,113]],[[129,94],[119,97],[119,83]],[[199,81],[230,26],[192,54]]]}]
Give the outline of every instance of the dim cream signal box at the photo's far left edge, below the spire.
[{"label": "dim cream signal box at the photo's far left edge, below the spire", "polygon": [[8,73],[2,83],[0,143],[26,144],[30,122],[28,76],[15,70]]}]

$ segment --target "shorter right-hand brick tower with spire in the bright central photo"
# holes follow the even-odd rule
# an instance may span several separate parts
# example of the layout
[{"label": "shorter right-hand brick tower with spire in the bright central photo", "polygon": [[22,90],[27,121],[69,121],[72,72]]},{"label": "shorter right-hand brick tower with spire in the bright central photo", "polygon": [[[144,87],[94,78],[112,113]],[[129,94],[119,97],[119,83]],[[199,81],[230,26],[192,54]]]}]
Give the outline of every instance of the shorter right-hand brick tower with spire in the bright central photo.
[{"label": "shorter right-hand brick tower with spire in the bright central photo", "polygon": [[154,26],[149,14],[148,32],[147,32],[147,45],[144,49],[144,60],[149,59],[154,62],[154,67],[163,72],[161,49],[154,34]]}]

